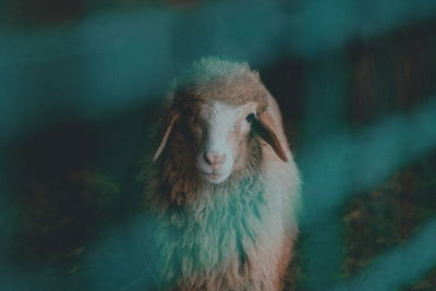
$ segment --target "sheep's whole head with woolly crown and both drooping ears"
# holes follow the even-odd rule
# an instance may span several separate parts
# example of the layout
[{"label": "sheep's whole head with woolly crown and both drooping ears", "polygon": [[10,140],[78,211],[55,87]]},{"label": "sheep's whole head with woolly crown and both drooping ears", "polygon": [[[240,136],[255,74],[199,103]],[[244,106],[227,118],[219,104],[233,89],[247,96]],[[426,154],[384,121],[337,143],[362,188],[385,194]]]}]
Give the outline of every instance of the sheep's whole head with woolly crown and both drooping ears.
[{"label": "sheep's whole head with woolly crown and both drooping ears", "polygon": [[246,64],[203,59],[181,84],[154,160],[167,143],[183,143],[187,159],[183,163],[214,184],[242,171],[252,156],[262,155],[261,143],[287,160],[267,112],[268,92]]}]

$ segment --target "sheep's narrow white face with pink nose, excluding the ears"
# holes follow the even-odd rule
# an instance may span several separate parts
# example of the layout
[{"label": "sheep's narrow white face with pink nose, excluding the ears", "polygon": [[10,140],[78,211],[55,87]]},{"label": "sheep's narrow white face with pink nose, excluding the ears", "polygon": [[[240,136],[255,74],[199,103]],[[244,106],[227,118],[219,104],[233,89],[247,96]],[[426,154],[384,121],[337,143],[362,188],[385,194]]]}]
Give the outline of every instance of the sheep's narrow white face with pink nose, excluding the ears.
[{"label": "sheep's narrow white face with pink nose, excluding the ears", "polygon": [[230,106],[214,101],[201,106],[192,128],[198,144],[195,166],[202,178],[221,183],[243,162],[255,113],[255,102]]}]

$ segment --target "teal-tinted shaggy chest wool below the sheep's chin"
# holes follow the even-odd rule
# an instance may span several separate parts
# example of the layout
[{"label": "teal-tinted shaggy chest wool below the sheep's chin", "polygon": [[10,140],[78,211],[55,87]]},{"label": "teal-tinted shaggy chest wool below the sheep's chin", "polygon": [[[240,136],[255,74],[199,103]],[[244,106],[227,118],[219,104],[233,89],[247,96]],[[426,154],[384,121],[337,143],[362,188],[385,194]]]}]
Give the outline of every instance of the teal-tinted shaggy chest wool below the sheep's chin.
[{"label": "teal-tinted shaggy chest wool below the sheep's chin", "polygon": [[[179,266],[175,262],[184,264],[173,274],[242,266],[262,231],[266,199],[258,178],[203,191],[196,193],[196,203],[169,207],[161,217],[167,227],[160,241],[171,250],[168,257],[173,260],[167,268]],[[182,251],[186,248],[193,252]]]}]

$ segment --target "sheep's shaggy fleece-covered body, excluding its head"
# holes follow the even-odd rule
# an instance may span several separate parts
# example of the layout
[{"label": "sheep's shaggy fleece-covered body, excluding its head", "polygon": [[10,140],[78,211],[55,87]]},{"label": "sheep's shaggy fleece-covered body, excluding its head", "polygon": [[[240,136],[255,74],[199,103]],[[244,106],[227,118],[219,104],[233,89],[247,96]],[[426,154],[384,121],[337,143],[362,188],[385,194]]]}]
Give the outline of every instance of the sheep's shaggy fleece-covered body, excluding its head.
[{"label": "sheep's shaggy fleece-covered body, excluding its head", "polygon": [[[278,138],[288,145],[278,106],[269,95],[267,100]],[[238,179],[214,185],[198,182],[178,165],[183,146],[182,141],[172,143],[146,178],[160,286],[280,290],[298,233],[300,180],[289,147],[289,161],[283,162],[269,145],[256,142]],[[170,198],[171,193],[179,197]]]}]

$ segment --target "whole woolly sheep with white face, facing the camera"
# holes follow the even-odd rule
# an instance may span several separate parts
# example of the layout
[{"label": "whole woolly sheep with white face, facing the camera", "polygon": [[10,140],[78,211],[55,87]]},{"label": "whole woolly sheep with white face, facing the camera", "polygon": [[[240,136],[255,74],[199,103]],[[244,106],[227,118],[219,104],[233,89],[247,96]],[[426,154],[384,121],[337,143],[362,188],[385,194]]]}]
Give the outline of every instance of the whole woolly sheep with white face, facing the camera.
[{"label": "whole woolly sheep with white face, facing the camera", "polygon": [[177,81],[164,116],[144,173],[159,288],[282,289],[301,182],[258,73],[203,58]]}]

